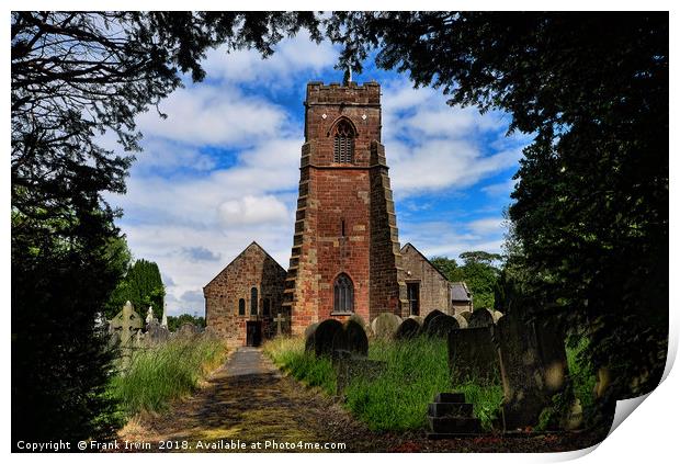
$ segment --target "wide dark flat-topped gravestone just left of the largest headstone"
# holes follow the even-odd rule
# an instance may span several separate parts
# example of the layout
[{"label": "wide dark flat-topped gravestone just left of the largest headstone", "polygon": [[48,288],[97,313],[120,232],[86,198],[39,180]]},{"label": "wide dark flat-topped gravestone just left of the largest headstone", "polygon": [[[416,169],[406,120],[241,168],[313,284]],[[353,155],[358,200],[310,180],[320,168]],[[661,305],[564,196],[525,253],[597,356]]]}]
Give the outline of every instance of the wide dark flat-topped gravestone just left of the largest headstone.
[{"label": "wide dark flat-topped gravestone just left of the largest headstone", "polygon": [[489,327],[453,329],[449,332],[449,369],[454,383],[475,380],[497,383],[498,350]]}]

